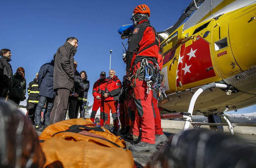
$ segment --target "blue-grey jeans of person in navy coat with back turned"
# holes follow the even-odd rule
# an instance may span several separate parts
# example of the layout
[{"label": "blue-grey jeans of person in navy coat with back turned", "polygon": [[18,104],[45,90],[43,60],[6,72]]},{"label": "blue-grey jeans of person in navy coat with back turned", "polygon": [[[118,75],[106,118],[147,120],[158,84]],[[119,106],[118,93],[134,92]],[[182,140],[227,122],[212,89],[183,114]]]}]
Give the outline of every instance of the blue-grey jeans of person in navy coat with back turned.
[{"label": "blue-grey jeans of person in navy coat with back turned", "polygon": [[46,102],[46,109],[47,109],[44,111],[45,124],[50,125],[50,116],[51,116],[51,111],[53,109],[54,99],[50,97],[44,97],[44,96],[40,96],[39,102],[36,106],[35,124],[41,123],[41,111],[45,105],[45,102]]}]

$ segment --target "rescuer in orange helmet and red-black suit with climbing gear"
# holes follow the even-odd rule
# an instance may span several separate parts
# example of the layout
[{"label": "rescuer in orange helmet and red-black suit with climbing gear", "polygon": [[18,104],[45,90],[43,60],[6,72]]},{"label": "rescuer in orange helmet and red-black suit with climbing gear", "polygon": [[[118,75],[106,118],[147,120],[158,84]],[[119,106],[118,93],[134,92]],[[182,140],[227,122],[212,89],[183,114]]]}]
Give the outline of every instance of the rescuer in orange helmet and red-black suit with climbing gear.
[{"label": "rescuer in orange helmet and red-black suit with climbing gear", "polygon": [[131,145],[129,149],[155,152],[155,121],[151,86],[156,76],[155,65],[158,64],[159,37],[149,24],[149,16],[150,9],[147,5],[137,6],[132,13],[134,30],[126,53],[126,71],[128,79],[131,79],[133,84],[135,104],[141,119],[142,130],[140,142]]}]

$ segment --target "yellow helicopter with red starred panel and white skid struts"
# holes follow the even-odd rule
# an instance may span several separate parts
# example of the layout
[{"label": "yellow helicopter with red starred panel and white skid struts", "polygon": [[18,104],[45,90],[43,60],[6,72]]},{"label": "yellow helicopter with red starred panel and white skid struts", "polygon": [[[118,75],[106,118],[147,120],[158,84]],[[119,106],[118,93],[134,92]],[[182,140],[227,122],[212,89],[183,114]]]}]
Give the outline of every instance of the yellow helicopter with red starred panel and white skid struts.
[{"label": "yellow helicopter with red starred panel and white skid struts", "polygon": [[[255,0],[192,0],[173,26],[158,32],[164,57],[162,114],[188,111],[196,91],[213,83],[222,87],[204,89],[188,116],[256,104],[255,17]],[[121,38],[132,28],[121,27]]]}]

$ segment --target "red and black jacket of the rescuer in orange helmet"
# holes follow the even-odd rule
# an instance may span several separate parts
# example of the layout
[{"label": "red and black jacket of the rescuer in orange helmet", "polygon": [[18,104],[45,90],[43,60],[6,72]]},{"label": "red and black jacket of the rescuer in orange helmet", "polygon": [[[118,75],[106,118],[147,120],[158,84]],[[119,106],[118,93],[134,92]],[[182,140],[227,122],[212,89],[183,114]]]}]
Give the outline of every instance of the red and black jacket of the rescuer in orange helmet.
[{"label": "red and black jacket of the rescuer in orange helmet", "polygon": [[126,71],[131,71],[132,67],[143,58],[157,62],[159,51],[159,37],[149,21],[140,21],[133,29],[129,46],[126,53]]}]

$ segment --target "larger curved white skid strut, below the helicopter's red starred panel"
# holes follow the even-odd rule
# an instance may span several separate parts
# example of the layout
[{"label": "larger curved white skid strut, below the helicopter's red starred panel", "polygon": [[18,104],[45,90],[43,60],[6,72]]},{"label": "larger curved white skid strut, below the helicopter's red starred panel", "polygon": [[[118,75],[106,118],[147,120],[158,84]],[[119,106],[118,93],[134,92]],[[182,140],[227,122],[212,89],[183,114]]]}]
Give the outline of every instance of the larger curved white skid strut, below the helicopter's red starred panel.
[{"label": "larger curved white skid strut, below the helicopter's red starred panel", "polygon": [[189,129],[189,125],[191,122],[191,118],[192,118],[192,113],[193,113],[193,109],[194,109],[194,105],[196,102],[196,99],[198,98],[198,96],[205,90],[210,89],[210,88],[224,88],[226,89],[228,86],[226,84],[223,83],[210,83],[208,85],[204,85],[201,88],[199,88],[194,95],[192,96],[190,103],[189,103],[189,107],[188,107],[188,113],[190,113],[190,115],[186,118],[185,120],[185,124],[183,127],[183,130],[188,130]]}]

